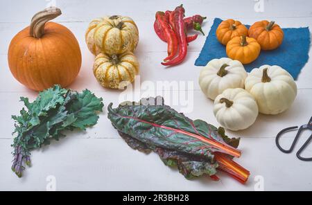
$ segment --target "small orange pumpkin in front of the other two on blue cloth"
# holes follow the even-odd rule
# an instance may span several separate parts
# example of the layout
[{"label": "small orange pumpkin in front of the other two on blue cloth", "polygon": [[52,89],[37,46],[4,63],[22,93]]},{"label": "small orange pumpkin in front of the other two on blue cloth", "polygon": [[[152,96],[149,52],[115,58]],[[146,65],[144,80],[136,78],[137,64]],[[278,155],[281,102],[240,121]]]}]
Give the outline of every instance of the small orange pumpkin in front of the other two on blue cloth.
[{"label": "small orange pumpkin in front of the other two on blue cloth", "polygon": [[252,37],[234,37],[227,43],[227,56],[243,64],[253,62],[259,56],[261,46]]}]

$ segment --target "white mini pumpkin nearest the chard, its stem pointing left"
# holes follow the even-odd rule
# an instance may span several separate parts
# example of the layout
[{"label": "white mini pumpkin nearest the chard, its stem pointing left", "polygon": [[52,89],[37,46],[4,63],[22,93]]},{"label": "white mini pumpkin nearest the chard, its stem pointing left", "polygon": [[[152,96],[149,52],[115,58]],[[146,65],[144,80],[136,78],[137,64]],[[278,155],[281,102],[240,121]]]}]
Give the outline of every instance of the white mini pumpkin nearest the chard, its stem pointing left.
[{"label": "white mini pumpkin nearest the chard, its stem pointing left", "polygon": [[214,116],[228,130],[245,130],[258,116],[256,100],[241,88],[226,89],[214,100]]}]

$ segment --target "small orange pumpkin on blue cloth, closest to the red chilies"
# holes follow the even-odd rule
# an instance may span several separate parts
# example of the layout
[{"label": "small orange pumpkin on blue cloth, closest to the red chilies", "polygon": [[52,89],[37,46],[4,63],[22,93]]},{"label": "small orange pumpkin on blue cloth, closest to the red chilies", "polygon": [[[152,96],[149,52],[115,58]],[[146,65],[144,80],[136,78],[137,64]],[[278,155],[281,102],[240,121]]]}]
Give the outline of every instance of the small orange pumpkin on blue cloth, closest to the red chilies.
[{"label": "small orange pumpkin on blue cloth, closest to the red chilies", "polygon": [[227,45],[227,42],[236,36],[248,35],[248,29],[240,21],[227,19],[219,24],[216,30],[216,37],[218,41]]}]

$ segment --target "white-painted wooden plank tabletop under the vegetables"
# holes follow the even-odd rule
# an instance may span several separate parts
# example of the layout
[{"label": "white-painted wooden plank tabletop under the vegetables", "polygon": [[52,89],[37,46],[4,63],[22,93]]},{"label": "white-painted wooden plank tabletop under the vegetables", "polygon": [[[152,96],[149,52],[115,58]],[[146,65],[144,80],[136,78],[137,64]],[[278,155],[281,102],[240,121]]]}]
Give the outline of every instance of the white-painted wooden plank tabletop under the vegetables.
[{"label": "white-painted wooden plank tabletop under the vegetables", "polygon": [[[247,184],[220,174],[220,181],[211,181],[207,177],[187,180],[177,170],[164,166],[156,154],[142,154],[132,150],[119,137],[107,119],[107,105],[119,104],[121,91],[103,89],[92,73],[94,56],[89,53],[84,34],[89,21],[103,15],[126,15],[135,19],[139,27],[140,41],[135,54],[141,64],[140,82],[157,81],[192,82],[193,87],[180,86],[177,89],[153,87],[150,95],[164,95],[168,105],[180,111],[187,111],[190,118],[201,118],[218,125],[212,112],[213,103],[207,100],[198,86],[200,67],[194,66],[196,57],[205,42],[199,35],[189,45],[187,59],[171,69],[160,65],[166,56],[166,44],[154,33],[153,21],[157,10],[173,9],[184,3],[186,14],[200,14],[208,20],[203,26],[209,32],[214,17],[233,18],[245,24],[261,19],[275,20],[282,27],[312,27],[312,2],[309,0],[259,0],[260,7],[254,10],[257,1],[240,2],[223,0],[184,0],[184,1],[102,1],[102,0],[56,0],[62,16],[55,21],[67,26],[76,35],[83,54],[83,66],[71,89],[89,89],[104,99],[105,111],[98,124],[87,132],[72,132],[67,138],[32,153],[31,168],[26,168],[24,177],[17,178],[10,170],[12,161],[12,131],[14,123],[10,118],[18,114],[23,106],[20,96],[35,99],[37,93],[30,91],[17,82],[11,75],[7,51],[10,39],[22,28],[28,26],[35,12],[42,10],[47,3],[44,0],[10,0],[0,2],[0,190],[46,190],[49,181],[56,181],[56,190],[312,190],[312,163],[299,161],[293,154],[283,154],[275,145],[275,135],[284,127],[302,125],[309,121],[312,113],[312,61],[304,66],[297,80],[298,94],[291,109],[277,116],[259,115],[256,123],[242,132],[227,132],[229,136],[240,136],[242,157],[236,159],[252,173]],[[258,3],[259,3],[258,1]],[[263,3],[263,7],[262,4]],[[262,11],[262,12],[261,12]],[[311,55],[311,51],[310,51]],[[170,96],[179,96],[187,92],[190,109],[182,103],[175,103]],[[148,96],[149,93],[137,90],[134,98]],[[192,106],[193,105],[193,106]],[[297,144],[302,145],[310,133],[305,132]],[[282,145],[289,146],[294,135],[287,134]],[[311,156],[312,148],[304,155]],[[259,186],[263,181],[264,186]],[[258,183],[258,184],[257,184]]]}]

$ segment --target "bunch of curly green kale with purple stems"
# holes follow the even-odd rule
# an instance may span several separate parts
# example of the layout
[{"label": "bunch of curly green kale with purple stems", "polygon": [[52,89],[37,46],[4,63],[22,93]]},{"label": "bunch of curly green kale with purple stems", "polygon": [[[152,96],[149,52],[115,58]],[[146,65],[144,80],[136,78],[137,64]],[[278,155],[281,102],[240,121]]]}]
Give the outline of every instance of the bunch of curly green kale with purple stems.
[{"label": "bunch of curly green kale with purple stems", "polygon": [[40,92],[33,103],[24,97],[21,101],[27,110],[23,108],[19,116],[12,116],[17,134],[12,144],[12,171],[18,177],[25,169],[24,163],[31,164],[31,150],[49,145],[51,139],[59,140],[64,130],[85,130],[95,125],[104,106],[103,99],[87,89],[78,93],[58,85]]}]

